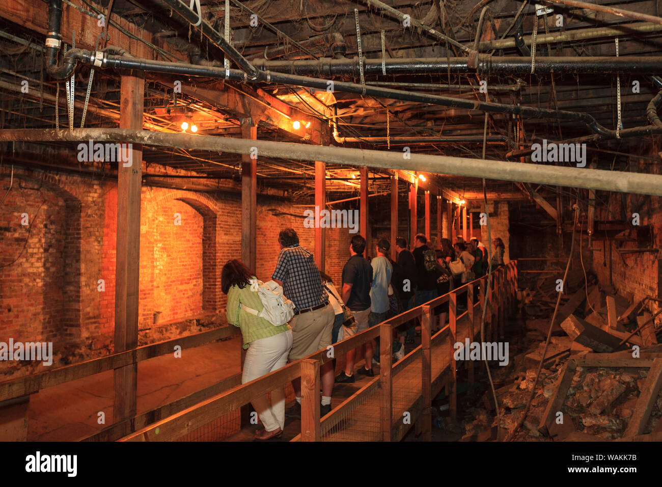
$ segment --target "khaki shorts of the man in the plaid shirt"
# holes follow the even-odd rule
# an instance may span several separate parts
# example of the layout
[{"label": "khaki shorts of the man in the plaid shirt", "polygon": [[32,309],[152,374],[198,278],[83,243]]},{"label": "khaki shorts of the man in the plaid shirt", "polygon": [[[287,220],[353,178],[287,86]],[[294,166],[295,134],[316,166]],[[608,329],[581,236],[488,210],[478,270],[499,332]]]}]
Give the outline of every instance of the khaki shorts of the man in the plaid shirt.
[{"label": "khaki shorts of the man in the plaid shirt", "polygon": [[336,315],[332,305],[295,315],[289,325],[292,327],[292,351],[290,360],[298,360],[326,349],[331,345],[331,334]]}]

